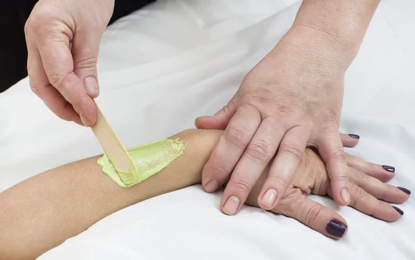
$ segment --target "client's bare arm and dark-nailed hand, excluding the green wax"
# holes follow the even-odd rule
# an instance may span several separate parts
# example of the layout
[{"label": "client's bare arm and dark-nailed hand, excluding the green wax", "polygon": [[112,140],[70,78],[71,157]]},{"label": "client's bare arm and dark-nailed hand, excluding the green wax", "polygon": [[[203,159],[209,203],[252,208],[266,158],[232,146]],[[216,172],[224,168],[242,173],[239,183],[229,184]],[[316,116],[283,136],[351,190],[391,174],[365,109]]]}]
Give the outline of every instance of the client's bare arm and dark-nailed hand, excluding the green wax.
[{"label": "client's bare arm and dark-nailed hand, excluding the green wax", "polygon": [[[203,165],[221,134],[216,130],[186,130],[172,136],[187,143],[183,156],[129,189],[119,187],[102,174],[96,164],[98,156],[51,169],[10,187],[0,194],[0,259],[34,259],[113,212],[201,183]],[[348,146],[357,143],[346,135],[342,140]],[[391,179],[393,173],[354,156],[348,156],[347,164],[351,207],[383,221],[399,219],[401,215],[394,207],[377,199],[403,203],[409,198],[397,187],[380,181]],[[248,205],[258,207],[257,196],[268,168],[248,196]],[[339,239],[326,227],[332,220],[344,225],[347,221],[334,210],[306,198],[311,193],[332,196],[324,163],[313,150],[307,149],[281,203],[271,211]]]}]

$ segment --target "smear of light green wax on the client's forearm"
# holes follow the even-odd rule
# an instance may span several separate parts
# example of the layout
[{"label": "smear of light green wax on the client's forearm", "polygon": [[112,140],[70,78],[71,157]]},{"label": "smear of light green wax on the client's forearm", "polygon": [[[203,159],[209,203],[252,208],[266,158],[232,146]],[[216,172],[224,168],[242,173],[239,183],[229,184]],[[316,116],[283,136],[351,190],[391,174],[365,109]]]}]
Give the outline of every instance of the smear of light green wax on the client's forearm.
[{"label": "smear of light green wax on the client's forearm", "polygon": [[[98,159],[98,165],[102,172],[121,187],[132,187],[158,173],[167,165],[172,163],[185,151],[185,143],[179,140],[162,139],[150,142],[145,145],[127,148],[127,152],[137,168],[137,175],[134,171],[117,172],[109,160],[107,154]],[[124,181],[122,181],[124,180]]]}]

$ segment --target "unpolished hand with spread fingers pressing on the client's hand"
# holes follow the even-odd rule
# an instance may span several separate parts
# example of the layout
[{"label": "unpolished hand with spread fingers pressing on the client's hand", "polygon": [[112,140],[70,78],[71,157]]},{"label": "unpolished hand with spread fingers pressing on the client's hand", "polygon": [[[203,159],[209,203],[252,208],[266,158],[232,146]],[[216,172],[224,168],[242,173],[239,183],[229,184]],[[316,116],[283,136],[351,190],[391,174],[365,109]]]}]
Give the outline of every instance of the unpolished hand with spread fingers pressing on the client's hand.
[{"label": "unpolished hand with spread fingers pressing on the client's hand", "polygon": [[[258,204],[273,209],[289,187],[306,146],[326,163],[333,198],[350,203],[346,154],[338,130],[344,72],[350,53],[330,46],[317,30],[293,27],[246,75],[232,100],[201,129],[225,129],[203,169],[203,187],[213,192],[230,177],[221,203],[240,204],[275,156]],[[236,214],[228,212],[228,214]]]}]

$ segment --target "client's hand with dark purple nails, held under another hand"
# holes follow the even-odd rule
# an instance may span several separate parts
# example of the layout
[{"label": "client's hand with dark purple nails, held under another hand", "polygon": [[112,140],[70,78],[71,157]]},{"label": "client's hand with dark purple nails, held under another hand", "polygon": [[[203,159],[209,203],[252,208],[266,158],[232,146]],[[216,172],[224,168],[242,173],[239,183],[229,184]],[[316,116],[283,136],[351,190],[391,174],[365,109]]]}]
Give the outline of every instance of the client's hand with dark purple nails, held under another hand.
[{"label": "client's hand with dark purple nails, held under another hand", "polygon": [[[409,190],[382,183],[390,180],[393,172],[351,155],[347,156],[347,165],[351,197],[349,206],[382,221],[396,221],[403,215],[398,207],[383,202],[403,203],[409,198]],[[258,207],[258,194],[265,180],[266,174],[262,174],[248,196],[248,205]],[[331,208],[307,198],[309,194],[333,198],[330,181],[320,156],[312,149],[306,149],[281,202],[271,211],[297,219],[325,236],[341,238],[347,232],[347,221]]]}]

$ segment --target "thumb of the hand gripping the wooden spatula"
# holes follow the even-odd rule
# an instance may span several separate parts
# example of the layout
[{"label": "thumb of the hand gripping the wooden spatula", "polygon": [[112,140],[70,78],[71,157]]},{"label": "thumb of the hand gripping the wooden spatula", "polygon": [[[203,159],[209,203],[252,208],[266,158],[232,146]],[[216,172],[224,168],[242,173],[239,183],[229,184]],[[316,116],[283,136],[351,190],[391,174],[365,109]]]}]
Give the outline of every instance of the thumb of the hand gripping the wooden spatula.
[{"label": "thumb of the hand gripping the wooden spatula", "polygon": [[103,32],[104,30],[77,30],[72,41],[73,72],[80,78],[91,98],[100,94],[97,62]]}]

